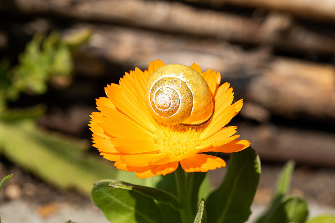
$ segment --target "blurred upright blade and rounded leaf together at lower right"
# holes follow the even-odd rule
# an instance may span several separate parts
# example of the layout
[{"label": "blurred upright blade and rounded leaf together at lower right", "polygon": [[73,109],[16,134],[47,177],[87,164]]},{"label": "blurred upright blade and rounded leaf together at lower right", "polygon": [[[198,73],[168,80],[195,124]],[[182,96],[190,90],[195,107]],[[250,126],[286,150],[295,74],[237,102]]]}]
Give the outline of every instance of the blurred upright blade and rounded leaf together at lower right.
[{"label": "blurred upright blade and rounded leaf together at lower right", "polygon": [[289,191],[293,169],[294,162],[288,161],[280,171],[270,208],[257,220],[257,223],[304,222],[306,220],[308,208],[305,199],[286,196]]}]

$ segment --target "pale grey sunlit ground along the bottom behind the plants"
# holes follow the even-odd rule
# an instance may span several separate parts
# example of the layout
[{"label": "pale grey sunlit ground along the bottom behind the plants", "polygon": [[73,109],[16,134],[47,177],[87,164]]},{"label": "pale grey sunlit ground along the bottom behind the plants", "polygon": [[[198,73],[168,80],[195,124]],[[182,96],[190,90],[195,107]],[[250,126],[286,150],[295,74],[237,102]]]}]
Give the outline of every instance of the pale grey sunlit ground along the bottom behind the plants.
[{"label": "pale grey sunlit ground along the bottom behind the plants", "polygon": [[[0,205],[2,222],[25,222],[25,223],[61,223],[72,220],[80,223],[108,223],[104,215],[93,205],[71,203],[49,203],[44,206],[31,204],[30,202],[18,199]],[[265,205],[255,204],[251,207],[252,215],[247,223],[254,222],[266,209]],[[44,211],[42,211],[44,210]],[[335,215],[335,208],[309,204],[310,217],[320,214]]]}]

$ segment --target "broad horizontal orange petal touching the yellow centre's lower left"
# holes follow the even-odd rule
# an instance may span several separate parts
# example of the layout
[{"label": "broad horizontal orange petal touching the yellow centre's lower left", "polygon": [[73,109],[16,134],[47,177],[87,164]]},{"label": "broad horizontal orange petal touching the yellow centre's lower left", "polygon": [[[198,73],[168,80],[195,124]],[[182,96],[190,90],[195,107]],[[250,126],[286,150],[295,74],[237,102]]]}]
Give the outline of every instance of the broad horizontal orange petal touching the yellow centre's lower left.
[{"label": "broad horizontal orange petal touching the yellow centre's lower left", "polygon": [[156,151],[157,148],[152,141],[136,138],[112,139],[114,149],[122,153],[146,153]]}]

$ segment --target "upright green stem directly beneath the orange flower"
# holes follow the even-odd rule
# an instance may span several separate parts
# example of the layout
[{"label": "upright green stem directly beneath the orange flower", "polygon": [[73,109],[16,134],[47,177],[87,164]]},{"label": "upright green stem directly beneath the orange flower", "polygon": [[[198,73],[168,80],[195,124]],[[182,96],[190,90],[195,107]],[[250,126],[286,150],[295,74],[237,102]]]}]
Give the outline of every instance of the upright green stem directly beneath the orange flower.
[{"label": "upright green stem directly beneath the orange flower", "polygon": [[182,167],[178,167],[175,171],[178,197],[184,208],[180,210],[180,215],[183,223],[192,223],[194,216],[192,213],[191,194],[188,190],[188,183],[185,176],[185,171]]}]

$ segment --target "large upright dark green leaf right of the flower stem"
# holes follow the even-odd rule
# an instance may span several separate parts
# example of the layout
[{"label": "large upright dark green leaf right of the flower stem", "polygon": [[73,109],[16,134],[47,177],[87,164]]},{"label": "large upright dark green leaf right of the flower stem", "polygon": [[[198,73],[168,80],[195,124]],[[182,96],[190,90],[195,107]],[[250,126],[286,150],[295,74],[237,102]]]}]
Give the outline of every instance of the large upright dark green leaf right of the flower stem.
[{"label": "large upright dark green leaf right of the flower stem", "polygon": [[208,222],[245,222],[251,214],[260,173],[259,156],[251,147],[232,153],[222,184],[207,198]]}]

